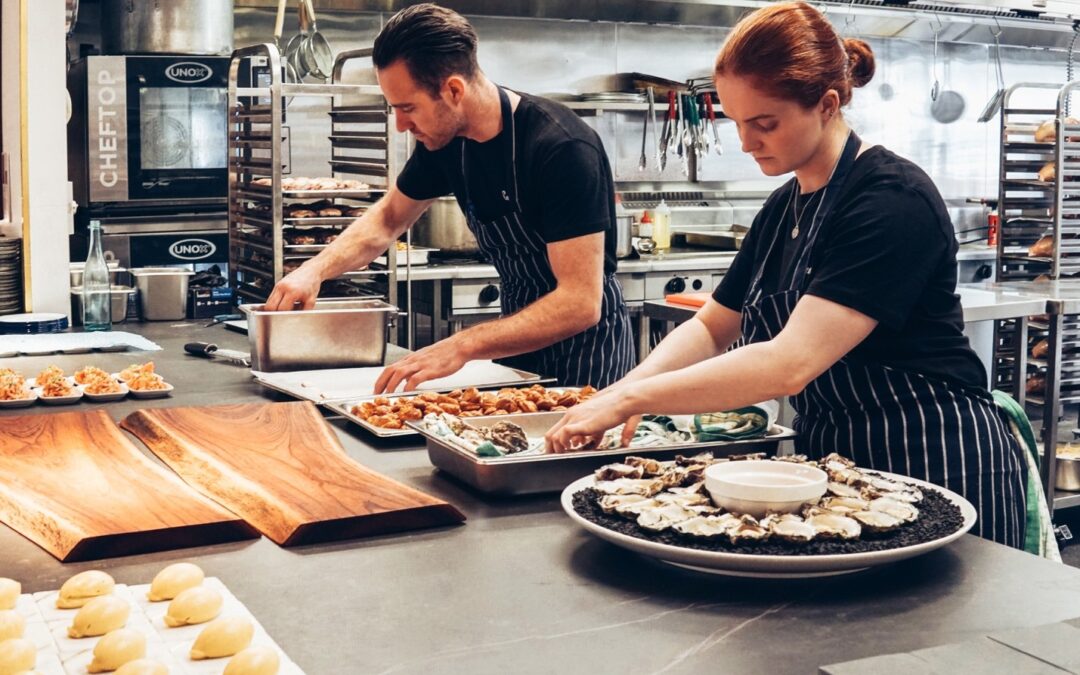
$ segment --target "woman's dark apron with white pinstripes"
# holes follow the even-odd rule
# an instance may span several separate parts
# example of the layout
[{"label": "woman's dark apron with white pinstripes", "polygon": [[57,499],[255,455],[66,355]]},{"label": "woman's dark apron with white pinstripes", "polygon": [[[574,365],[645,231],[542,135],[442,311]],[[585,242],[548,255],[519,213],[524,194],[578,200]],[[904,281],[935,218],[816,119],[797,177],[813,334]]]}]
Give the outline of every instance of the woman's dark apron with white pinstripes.
[{"label": "woman's dark apron with white pinstripes", "polygon": [[[858,136],[851,134],[795,253],[791,273],[781,280],[775,294],[764,294],[764,261],[758,266],[742,310],[745,342],[772,339],[787,323],[812,273],[811,252],[821,225],[859,146]],[[796,190],[797,184],[791,199]],[[783,218],[766,260],[780,254]],[[1008,422],[987,392],[845,356],[793,396],[791,404],[799,433],[796,451],[815,459],[837,451],[861,467],[944,486],[974,504],[980,537],[1024,546],[1026,467]]]}]

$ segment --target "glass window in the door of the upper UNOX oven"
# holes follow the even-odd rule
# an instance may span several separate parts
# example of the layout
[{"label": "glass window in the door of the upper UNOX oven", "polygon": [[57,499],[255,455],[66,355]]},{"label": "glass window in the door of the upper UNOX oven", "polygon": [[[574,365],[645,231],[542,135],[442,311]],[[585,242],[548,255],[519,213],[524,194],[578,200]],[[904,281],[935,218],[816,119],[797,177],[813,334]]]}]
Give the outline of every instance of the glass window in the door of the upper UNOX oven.
[{"label": "glass window in the door of the upper UNOX oven", "polygon": [[143,168],[225,168],[227,97],[220,87],[140,89]]}]

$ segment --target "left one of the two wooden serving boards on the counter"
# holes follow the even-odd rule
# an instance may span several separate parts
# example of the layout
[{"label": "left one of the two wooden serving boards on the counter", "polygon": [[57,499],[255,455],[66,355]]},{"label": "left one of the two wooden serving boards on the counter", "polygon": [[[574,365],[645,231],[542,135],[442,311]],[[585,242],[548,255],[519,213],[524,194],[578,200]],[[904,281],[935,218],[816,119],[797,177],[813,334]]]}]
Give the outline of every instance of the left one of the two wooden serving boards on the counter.
[{"label": "left one of the two wooden serving boards on the counter", "polygon": [[100,410],[3,418],[0,521],[65,563],[258,537]]}]

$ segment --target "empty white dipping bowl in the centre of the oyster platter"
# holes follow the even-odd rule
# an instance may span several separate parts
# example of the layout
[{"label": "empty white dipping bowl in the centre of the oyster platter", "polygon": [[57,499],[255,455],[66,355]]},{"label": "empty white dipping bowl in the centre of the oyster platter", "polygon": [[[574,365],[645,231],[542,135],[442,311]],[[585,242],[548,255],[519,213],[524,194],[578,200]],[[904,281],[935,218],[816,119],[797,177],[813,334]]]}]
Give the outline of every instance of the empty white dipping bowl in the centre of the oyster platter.
[{"label": "empty white dipping bowl in the centre of the oyster platter", "polygon": [[810,464],[771,460],[718,462],[705,469],[713,503],[756,518],[792,513],[825,494],[828,475]]}]

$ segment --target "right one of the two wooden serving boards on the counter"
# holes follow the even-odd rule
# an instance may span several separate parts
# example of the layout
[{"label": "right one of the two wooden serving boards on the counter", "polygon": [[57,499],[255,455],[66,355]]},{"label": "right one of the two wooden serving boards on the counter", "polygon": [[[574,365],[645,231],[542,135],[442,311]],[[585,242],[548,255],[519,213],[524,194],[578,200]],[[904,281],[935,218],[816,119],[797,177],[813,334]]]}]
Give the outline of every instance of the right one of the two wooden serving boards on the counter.
[{"label": "right one of the two wooden serving boards on the counter", "polygon": [[450,525],[450,504],[352,460],[309,402],[154,408],[121,426],[281,545]]}]

